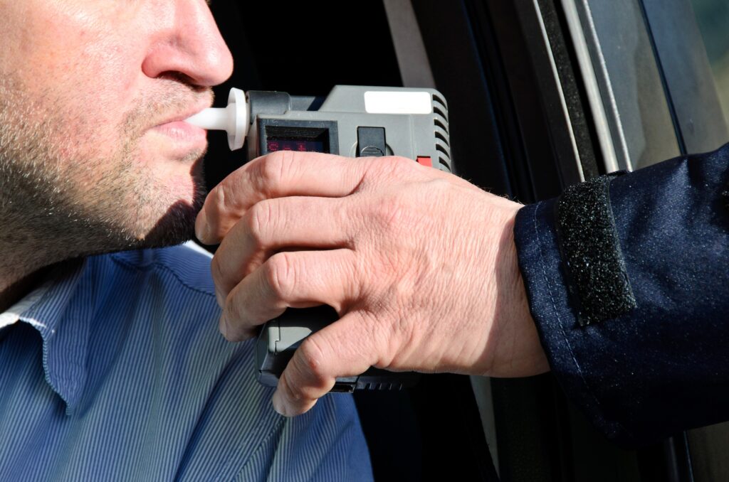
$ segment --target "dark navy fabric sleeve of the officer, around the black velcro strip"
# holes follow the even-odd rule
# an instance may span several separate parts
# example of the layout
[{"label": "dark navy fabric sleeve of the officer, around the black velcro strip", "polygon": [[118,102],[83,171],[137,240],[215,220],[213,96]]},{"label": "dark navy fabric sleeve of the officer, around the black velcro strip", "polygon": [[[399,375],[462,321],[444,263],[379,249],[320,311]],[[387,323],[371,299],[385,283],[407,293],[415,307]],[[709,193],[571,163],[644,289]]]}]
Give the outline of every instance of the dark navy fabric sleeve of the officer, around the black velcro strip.
[{"label": "dark navy fabric sleeve of the officer, around the black velcro strip", "polygon": [[[636,446],[729,419],[729,144],[609,184],[636,307],[577,323],[550,199],[515,225],[553,373],[608,438]],[[574,291],[572,291],[574,293]]]}]

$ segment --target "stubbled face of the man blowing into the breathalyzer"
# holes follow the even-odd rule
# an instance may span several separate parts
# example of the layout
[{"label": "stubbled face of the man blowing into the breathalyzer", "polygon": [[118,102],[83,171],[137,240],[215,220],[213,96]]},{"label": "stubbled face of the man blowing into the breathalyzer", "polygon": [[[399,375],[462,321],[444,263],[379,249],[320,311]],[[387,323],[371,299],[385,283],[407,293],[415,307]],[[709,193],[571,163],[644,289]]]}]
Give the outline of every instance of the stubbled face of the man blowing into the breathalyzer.
[{"label": "stubbled face of the man blowing into the breathalyzer", "polygon": [[176,121],[233,68],[206,1],[0,0],[0,19],[0,219],[18,242],[187,239],[207,141]]}]

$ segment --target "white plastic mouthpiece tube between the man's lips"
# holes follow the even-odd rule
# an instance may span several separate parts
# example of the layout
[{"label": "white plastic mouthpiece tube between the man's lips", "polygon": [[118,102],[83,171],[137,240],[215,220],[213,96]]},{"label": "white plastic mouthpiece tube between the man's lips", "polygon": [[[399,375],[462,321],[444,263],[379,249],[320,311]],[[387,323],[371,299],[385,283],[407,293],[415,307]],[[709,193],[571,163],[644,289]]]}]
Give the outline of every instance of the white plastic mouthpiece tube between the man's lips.
[{"label": "white plastic mouthpiece tube between the man's lips", "polygon": [[185,122],[207,130],[225,130],[230,150],[241,149],[246,141],[249,125],[246,94],[240,89],[230,89],[226,108],[206,108]]}]

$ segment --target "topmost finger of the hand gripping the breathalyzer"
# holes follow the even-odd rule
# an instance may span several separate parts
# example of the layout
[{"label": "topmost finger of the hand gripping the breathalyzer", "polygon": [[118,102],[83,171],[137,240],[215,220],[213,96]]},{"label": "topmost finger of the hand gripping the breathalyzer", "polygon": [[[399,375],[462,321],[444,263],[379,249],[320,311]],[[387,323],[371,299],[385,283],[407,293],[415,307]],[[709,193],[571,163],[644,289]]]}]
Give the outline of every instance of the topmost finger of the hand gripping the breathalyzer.
[{"label": "topmost finger of the hand gripping the breathalyzer", "polygon": [[259,157],[210,191],[195,221],[195,234],[206,245],[217,244],[263,199],[345,197],[359,186],[364,172],[361,159],[319,152],[278,151]]}]

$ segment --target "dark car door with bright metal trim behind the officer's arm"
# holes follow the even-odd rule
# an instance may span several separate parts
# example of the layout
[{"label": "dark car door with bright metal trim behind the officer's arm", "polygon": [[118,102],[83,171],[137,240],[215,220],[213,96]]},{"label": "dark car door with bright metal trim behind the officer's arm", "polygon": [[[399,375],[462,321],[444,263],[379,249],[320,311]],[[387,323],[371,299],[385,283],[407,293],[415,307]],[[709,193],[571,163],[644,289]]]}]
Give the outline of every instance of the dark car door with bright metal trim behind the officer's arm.
[{"label": "dark car door with bright metal trim behind the officer's arm", "polygon": [[[435,83],[451,102],[459,173],[481,186],[532,202],[601,173],[729,140],[720,101],[727,95],[725,2],[413,0],[412,6]],[[463,88],[464,77],[480,85]],[[495,438],[490,448],[502,480],[729,477],[718,454],[724,424],[623,451],[587,424],[550,376],[480,380],[475,388],[486,400],[482,414],[492,421],[486,431],[495,437],[487,438]]]}]

